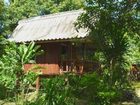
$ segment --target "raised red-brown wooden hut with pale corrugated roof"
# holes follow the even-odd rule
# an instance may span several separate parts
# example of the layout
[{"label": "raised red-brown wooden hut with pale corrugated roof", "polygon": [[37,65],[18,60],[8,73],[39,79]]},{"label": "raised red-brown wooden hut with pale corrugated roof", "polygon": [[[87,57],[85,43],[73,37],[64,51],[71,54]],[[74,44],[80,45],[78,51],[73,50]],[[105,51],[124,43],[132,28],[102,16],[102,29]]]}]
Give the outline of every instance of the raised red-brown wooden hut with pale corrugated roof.
[{"label": "raised red-brown wooden hut with pale corrugated roof", "polygon": [[[42,76],[64,72],[83,73],[97,68],[92,60],[95,47],[85,29],[75,29],[74,23],[82,10],[61,12],[21,20],[12,34],[17,43],[35,41],[44,54],[36,57],[45,67]],[[28,70],[34,64],[26,64]]]}]

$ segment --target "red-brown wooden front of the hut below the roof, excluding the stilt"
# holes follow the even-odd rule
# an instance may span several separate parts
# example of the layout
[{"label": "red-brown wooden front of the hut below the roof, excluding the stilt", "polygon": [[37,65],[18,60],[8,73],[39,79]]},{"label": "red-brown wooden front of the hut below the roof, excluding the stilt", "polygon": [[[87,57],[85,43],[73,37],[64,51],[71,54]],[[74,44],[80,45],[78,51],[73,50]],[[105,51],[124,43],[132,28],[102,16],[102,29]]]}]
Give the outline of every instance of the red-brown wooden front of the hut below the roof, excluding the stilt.
[{"label": "red-brown wooden front of the hut below the roof, excluding the stilt", "polygon": [[[84,59],[85,47],[76,46],[71,42],[49,42],[39,44],[44,53],[36,57],[37,65],[43,67],[43,74],[59,74],[61,71],[73,71],[83,73],[98,68],[98,64]],[[88,49],[86,49],[88,51]],[[83,52],[82,52],[83,51]],[[79,53],[80,52],[80,53]],[[79,59],[79,56],[81,59]],[[26,64],[28,70],[34,64]]]}]

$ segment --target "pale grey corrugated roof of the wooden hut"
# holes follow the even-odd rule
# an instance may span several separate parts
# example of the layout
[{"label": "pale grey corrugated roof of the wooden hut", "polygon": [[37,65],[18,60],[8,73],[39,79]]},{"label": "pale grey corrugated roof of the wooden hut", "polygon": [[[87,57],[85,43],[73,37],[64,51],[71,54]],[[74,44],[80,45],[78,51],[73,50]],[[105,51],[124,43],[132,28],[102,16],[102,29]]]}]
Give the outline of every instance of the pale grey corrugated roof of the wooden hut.
[{"label": "pale grey corrugated roof of the wooden hut", "polygon": [[86,37],[86,31],[76,31],[74,22],[82,10],[61,12],[21,20],[10,40],[15,42],[69,40]]}]

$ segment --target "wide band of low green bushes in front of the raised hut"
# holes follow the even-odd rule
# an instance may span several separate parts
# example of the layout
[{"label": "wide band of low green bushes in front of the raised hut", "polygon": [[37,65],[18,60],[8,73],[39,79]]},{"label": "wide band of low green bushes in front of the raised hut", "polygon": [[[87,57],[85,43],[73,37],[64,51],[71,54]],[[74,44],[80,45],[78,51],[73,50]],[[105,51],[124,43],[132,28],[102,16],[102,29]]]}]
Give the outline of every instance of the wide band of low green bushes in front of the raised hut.
[{"label": "wide band of low green bushes in front of the raised hut", "polygon": [[112,105],[123,99],[124,90],[97,73],[68,73],[42,79],[38,98],[29,105]]}]

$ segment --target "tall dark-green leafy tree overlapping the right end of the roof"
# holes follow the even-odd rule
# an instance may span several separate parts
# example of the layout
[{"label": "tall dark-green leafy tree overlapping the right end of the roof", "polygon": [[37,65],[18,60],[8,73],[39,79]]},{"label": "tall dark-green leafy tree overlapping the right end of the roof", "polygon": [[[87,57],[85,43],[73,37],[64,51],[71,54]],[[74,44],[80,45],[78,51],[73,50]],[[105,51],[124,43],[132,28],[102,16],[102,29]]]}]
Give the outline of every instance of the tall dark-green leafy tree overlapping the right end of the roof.
[{"label": "tall dark-green leafy tree overlapping the right end of the roof", "polygon": [[79,17],[77,27],[87,28],[98,51],[103,53],[111,83],[125,80],[128,38],[140,34],[139,3],[138,0],[85,0],[85,12]]}]

